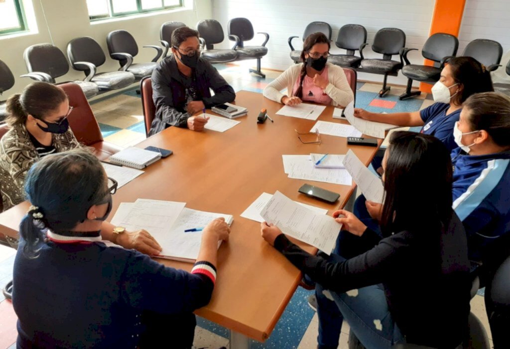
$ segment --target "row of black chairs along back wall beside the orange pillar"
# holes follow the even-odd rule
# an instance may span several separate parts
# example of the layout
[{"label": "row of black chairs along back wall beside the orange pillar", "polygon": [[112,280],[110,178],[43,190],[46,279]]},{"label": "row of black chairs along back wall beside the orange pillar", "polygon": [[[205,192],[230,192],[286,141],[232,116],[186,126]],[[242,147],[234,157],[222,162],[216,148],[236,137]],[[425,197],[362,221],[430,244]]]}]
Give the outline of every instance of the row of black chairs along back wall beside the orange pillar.
[{"label": "row of black chairs along back wall beside the orange pillar", "polygon": [[[326,22],[316,21],[308,24],[304,30],[303,41],[315,32],[321,32],[331,40],[331,26]],[[290,58],[298,63],[301,52],[294,49],[292,45],[292,40],[295,38],[298,37],[291,36],[288,42],[291,49]],[[384,75],[384,82],[379,96],[383,96],[390,90],[390,87],[387,86],[388,76],[397,76],[398,71],[401,70],[402,74],[407,77],[407,87],[399,98],[406,99],[420,94],[420,91],[411,91],[413,80],[432,84],[439,80],[445,61],[457,54],[458,39],[446,33],[436,33],[427,39],[423,45],[422,56],[433,61],[434,66],[411,64],[407,59],[407,54],[410,51],[417,50],[417,48],[405,47],[405,33],[398,28],[382,28],[375,34],[372,51],[381,54],[382,59],[365,59],[363,49],[368,45],[367,30],[360,24],[346,24],[341,27],[335,45],[347,52],[345,55],[330,55],[329,62],[354,68],[358,71]],[[360,52],[360,56],[355,55],[356,51]],[[392,60],[391,58],[394,55],[398,55],[400,60]],[[496,70],[500,66],[502,55],[503,47],[501,44],[487,39],[471,41],[462,54],[462,56],[475,58],[487,66],[489,71]],[[510,69],[510,62],[507,69]]]}]

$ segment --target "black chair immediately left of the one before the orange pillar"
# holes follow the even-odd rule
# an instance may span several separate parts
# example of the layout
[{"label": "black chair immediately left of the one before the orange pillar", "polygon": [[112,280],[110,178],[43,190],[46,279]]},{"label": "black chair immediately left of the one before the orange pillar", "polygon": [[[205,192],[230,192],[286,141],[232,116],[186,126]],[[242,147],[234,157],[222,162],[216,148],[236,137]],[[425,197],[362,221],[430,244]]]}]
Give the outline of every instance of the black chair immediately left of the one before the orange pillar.
[{"label": "black chair immediately left of the one before the orange pillar", "polygon": [[382,89],[379,91],[379,96],[382,97],[390,90],[390,86],[386,85],[388,76],[396,77],[403,66],[402,57],[398,62],[392,61],[391,56],[399,55],[400,49],[405,46],[405,33],[398,28],[382,28],[375,33],[372,51],[382,54],[382,59],[365,59],[363,49],[367,45],[368,43],[364,43],[360,47],[361,62],[356,70],[384,75]]}]

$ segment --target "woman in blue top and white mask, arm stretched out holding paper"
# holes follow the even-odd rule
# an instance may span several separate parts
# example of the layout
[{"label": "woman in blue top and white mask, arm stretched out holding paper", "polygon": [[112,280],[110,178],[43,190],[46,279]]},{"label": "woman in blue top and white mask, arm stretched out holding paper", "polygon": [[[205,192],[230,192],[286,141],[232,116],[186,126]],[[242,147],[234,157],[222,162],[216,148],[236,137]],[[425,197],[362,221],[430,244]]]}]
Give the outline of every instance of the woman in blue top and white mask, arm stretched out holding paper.
[{"label": "woman in blue top and white mask, arm stretched out holding paper", "polygon": [[[354,109],[359,118],[391,123],[397,126],[422,126],[421,133],[439,138],[452,151],[457,147],[453,140],[453,126],[461,114],[462,104],[478,92],[494,91],[489,71],[471,57],[455,57],[441,71],[441,79],[432,87],[436,103],[411,113],[380,114]],[[375,167],[378,168],[379,166]]]}]

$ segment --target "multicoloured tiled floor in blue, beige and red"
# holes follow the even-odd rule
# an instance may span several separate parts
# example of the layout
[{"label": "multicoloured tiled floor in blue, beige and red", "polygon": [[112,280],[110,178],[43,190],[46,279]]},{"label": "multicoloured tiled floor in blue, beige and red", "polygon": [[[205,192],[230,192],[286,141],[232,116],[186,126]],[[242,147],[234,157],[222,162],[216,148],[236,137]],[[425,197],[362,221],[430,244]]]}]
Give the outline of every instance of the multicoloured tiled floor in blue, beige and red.
[{"label": "multicoloured tiled floor in blue, beige and red", "polygon": [[[276,71],[265,71],[266,79],[248,74],[238,66],[216,64],[225,80],[235,91],[248,90],[262,92],[262,89],[279,75]],[[380,84],[358,83],[356,107],[373,112],[410,112],[428,107],[433,103],[430,95],[422,93],[417,98],[399,101],[403,88],[392,87],[383,98],[377,92]],[[94,114],[105,140],[119,146],[129,146],[145,139],[142,105],[134,90],[91,103]],[[0,245],[0,286],[12,279],[14,251]],[[298,288],[289,305],[278,321],[273,333],[265,343],[253,342],[252,348],[299,348],[309,349],[317,346],[317,314],[308,306],[307,297],[311,291]],[[489,332],[487,314],[483,303],[483,292],[479,292],[471,301],[471,310],[480,318]],[[198,319],[195,333],[197,348],[219,348],[228,346],[228,331],[205,319]],[[340,348],[347,348],[349,328],[345,323],[340,336]],[[16,315],[12,303],[0,294],[0,349],[9,348],[16,340]]]}]

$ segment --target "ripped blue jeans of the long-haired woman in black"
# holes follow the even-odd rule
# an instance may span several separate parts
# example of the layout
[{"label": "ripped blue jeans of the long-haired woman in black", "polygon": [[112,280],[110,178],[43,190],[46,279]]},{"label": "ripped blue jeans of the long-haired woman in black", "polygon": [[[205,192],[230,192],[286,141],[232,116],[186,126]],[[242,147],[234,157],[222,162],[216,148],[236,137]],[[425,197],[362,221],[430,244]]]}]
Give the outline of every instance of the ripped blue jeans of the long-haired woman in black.
[{"label": "ripped blue jeans of the long-haired woman in black", "polygon": [[[330,256],[331,262],[344,260],[335,254]],[[336,293],[317,284],[315,295],[319,317],[319,349],[338,347],[344,318],[367,349],[390,348],[396,343],[405,343],[388,309],[382,285]]]}]

